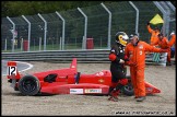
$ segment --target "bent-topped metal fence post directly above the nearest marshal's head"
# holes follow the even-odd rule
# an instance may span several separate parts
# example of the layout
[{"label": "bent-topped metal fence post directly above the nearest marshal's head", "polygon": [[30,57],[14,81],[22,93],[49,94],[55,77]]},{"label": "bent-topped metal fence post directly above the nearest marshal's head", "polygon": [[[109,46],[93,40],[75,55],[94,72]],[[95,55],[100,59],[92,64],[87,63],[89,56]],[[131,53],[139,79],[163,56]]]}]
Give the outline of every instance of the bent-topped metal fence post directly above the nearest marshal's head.
[{"label": "bent-topped metal fence post directly above the nearest marshal's head", "polygon": [[131,1],[129,1],[129,3],[134,8],[134,10],[137,11],[137,16],[135,16],[135,34],[139,35],[139,9],[134,5],[134,3],[132,3]]}]

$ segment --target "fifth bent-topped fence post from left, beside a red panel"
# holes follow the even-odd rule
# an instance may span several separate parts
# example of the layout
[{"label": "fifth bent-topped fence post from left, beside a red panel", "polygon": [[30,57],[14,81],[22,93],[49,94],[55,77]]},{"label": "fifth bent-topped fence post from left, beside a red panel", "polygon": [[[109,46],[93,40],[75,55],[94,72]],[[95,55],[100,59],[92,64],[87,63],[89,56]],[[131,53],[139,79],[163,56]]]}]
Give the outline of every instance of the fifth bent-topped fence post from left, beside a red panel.
[{"label": "fifth bent-topped fence post from left, beside a red panel", "polygon": [[82,49],[86,49],[86,32],[87,32],[87,16],[84,14],[84,12],[78,8],[78,10],[81,12],[81,14],[85,17],[85,28],[84,28],[84,39],[83,39],[83,46]]}]

